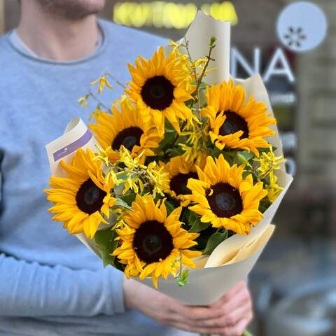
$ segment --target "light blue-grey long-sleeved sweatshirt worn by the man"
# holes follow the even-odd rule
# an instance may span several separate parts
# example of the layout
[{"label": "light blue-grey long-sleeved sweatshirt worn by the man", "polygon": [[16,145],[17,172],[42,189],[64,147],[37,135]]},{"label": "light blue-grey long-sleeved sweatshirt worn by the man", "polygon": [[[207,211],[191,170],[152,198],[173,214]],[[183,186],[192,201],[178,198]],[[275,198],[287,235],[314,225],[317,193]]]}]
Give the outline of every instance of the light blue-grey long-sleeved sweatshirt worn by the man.
[{"label": "light blue-grey long-sleeved sweatshirt worn by the man", "polygon": [[[41,59],[10,34],[0,38],[0,335],[191,335],[125,309],[123,274],[103,269],[47,211],[45,144],[71,118],[87,121],[94,104],[83,110],[78,98],[92,80],[109,71],[125,83],[127,62],[165,43],[99,25],[102,43],[73,62]],[[113,86],[102,95],[106,104],[123,93]]]}]

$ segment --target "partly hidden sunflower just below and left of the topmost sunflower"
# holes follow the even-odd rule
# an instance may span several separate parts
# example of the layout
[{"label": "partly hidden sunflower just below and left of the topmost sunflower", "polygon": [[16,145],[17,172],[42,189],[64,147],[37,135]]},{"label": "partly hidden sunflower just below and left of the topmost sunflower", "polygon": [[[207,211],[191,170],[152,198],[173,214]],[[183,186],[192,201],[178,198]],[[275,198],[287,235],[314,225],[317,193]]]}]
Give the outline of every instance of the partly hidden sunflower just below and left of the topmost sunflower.
[{"label": "partly hidden sunflower just below and left of the topmost sunflower", "polygon": [[146,156],[155,155],[153,148],[159,146],[161,137],[153,123],[150,120],[145,122],[142,112],[127,100],[120,103],[121,113],[114,105],[112,109],[113,115],[99,113],[95,117],[97,124],[90,125],[100,146],[111,148],[108,151],[111,162],[118,160],[120,146],[127,148],[133,157],[143,153],[141,162]]}]

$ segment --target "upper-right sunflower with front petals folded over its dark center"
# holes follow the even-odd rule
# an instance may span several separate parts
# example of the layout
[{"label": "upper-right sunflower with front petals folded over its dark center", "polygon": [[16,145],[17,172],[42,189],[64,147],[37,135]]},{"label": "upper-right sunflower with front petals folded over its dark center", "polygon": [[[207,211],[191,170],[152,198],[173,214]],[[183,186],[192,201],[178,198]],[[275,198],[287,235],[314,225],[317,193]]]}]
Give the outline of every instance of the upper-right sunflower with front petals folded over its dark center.
[{"label": "upper-right sunflower with front petals folded over its dark center", "polygon": [[253,96],[246,102],[244,88],[230,80],[207,87],[207,107],[202,115],[210,120],[209,136],[218,149],[241,148],[259,156],[258,148],[269,147],[264,138],[275,134],[269,126],[276,120],[266,111],[266,105],[255,102]]}]

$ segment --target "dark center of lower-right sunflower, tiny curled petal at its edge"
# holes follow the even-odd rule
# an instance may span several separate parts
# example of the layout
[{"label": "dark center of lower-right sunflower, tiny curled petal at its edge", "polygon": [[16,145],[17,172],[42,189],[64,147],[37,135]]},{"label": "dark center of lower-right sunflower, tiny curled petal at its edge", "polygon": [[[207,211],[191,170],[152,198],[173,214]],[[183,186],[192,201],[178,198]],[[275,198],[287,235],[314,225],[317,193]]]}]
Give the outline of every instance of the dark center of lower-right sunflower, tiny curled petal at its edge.
[{"label": "dark center of lower-right sunflower, tiny curled petal at its edge", "polygon": [[[211,193],[211,189],[213,193]],[[212,212],[221,218],[230,218],[240,214],[243,210],[243,202],[239,191],[229,183],[217,183],[206,190],[206,197]]]}]

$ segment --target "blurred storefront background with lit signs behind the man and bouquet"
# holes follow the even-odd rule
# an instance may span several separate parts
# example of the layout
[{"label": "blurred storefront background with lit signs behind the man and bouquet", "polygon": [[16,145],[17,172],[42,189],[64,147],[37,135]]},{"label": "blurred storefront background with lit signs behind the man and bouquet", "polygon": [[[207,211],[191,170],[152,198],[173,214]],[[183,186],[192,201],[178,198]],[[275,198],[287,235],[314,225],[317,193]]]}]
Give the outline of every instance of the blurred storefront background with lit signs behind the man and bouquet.
[{"label": "blurred storefront background with lit signs behind the man and bouquet", "polygon": [[[335,336],[336,1],[109,0],[102,17],[179,39],[197,9],[231,21],[231,73],[263,77],[295,175],[249,279],[251,331]],[[0,35],[19,15],[18,1],[0,0]]]}]

